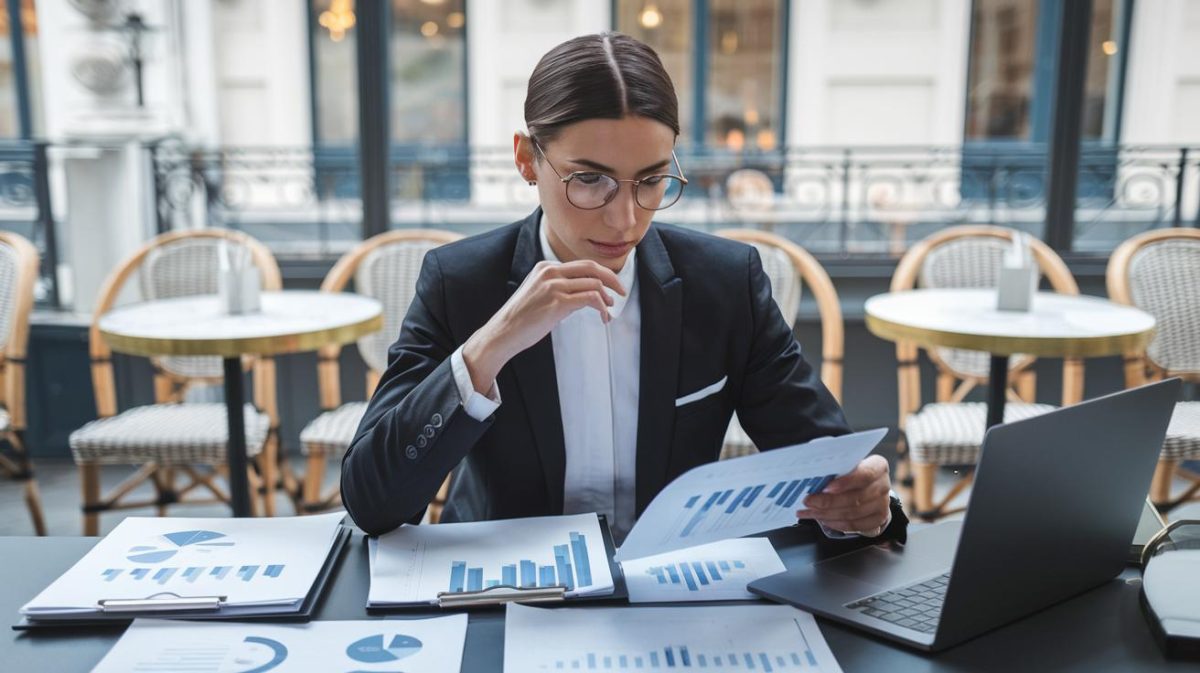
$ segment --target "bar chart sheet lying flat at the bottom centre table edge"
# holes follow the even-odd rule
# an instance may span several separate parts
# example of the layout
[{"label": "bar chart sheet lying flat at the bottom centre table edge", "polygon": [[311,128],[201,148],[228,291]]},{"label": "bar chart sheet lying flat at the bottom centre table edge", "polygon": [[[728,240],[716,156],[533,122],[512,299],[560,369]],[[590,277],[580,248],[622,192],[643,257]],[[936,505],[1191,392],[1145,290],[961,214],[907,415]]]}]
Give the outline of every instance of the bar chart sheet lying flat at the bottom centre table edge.
[{"label": "bar chart sheet lying flat at the bottom centre table edge", "polygon": [[840,671],[787,606],[508,608],[504,671]]}]

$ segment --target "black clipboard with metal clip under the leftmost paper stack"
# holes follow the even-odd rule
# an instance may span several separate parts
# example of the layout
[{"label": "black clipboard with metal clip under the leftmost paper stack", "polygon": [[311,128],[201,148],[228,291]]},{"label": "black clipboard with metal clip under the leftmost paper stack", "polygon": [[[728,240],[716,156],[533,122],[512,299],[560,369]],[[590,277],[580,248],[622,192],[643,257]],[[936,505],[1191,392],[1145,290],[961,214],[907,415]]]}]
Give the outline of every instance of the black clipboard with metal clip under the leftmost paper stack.
[{"label": "black clipboard with metal clip under the leftmost paper stack", "polygon": [[329,555],[325,557],[325,563],[299,606],[227,606],[224,596],[178,596],[163,593],[145,599],[101,601],[102,612],[100,613],[38,615],[36,619],[22,617],[20,621],[12,625],[12,629],[13,631],[40,631],[80,626],[124,627],[137,618],[311,621],[334,571],[346,553],[349,539],[350,529],[346,525],[338,528],[334,536],[334,543],[329,548]]}]

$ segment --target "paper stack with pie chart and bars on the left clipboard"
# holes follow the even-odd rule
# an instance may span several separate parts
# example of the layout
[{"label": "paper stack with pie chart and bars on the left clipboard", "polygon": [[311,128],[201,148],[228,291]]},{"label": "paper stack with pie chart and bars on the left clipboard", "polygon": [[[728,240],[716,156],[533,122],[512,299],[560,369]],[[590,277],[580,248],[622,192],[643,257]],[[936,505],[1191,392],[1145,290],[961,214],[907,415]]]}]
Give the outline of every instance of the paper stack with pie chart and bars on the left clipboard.
[{"label": "paper stack with pie chart and bars on the left clipboard", "polygon": [[130,517],[20,612],[30,620],[80,619],[103,614],[104,601],[156,600],[167,608],[187,597],[222,597],[215,617],[298,612],[343,517]]}]

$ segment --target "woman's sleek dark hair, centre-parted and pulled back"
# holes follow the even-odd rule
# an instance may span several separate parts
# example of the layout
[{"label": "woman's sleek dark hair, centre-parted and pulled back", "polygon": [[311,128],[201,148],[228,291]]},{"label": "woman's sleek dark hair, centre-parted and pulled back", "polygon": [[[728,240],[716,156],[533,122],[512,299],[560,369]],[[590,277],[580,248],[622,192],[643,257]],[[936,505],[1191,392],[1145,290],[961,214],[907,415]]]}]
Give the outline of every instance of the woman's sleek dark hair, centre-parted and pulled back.
[{"label": "woman's sleek dark hair, centre-parted and pulled back", "polygon": [[583,35],[546,53],[529,76],[526,128],[538,143],[588,119],[644,116],[679,134],[671,76],[649,46],[620,32]]}]

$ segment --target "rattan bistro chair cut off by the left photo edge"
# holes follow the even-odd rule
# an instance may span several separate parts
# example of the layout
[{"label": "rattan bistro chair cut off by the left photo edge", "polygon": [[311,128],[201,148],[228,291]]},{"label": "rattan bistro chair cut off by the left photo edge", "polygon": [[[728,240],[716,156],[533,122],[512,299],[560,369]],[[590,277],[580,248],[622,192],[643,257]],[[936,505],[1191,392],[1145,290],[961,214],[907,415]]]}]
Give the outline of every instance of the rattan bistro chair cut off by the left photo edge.
[{"label": "rattan bistro chair cut off by the left photo edge", "polygon": [[37,250],[24,238],[0,232],[0,470],[25,486],[34,530],[46,535],[42,498],[25,450],[25,347],[37,282]]}]

